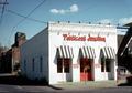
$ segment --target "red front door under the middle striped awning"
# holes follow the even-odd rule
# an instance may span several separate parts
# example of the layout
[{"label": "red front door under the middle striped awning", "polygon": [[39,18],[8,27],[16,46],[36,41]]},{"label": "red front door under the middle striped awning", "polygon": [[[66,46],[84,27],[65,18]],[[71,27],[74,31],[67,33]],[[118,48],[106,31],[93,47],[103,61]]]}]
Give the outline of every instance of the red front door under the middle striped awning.
[{"label": "red front door under the middle striped awning", "polygon": [[80,59],[80,81],[91,80],[91,61],[89,59]]}]

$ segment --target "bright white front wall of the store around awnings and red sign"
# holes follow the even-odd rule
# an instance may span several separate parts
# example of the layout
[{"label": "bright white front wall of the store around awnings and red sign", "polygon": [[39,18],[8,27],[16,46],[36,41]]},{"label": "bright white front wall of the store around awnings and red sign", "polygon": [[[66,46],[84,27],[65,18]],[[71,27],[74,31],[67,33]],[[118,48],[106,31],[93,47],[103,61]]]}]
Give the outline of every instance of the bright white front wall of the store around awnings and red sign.
[{"label": "bright white front wall of the store around awnings and red sign", "polygon": [[[64,41],[63,34],[70,35],[86,35],[91,37],[105,37],[106,42],[100,41]],[[79,65],[79,48],[88,45],[95,49],[96,59],[94,62],[94,80],[101,81],[108,80],[108,73],[101,72],[100,64],[100,49],[103,46],[111,46],[117,52],[117,29],[112,25],[87,25],[87,24],[73,24],[73,23],[51,23],[50,24],[50,83],[57,83],[59,81],[66,81],[65,73],[57,73],[56,62],[56,49],[59,45],[69,45],[74,51],[72,76],[69,80],[73,82],[80,81],[80,65]],[[74,68],[77,64],[78,68]],[[98,68],[96,66],[98,64]],[[100,64],[100,65],[99,65]],[[116,64],[116,63],[114,63]],[[113,66],[113,70],[116,68]],[[116,71],[114,71],[116,73]],[[112,74],[114,76],[114,73]]]}]

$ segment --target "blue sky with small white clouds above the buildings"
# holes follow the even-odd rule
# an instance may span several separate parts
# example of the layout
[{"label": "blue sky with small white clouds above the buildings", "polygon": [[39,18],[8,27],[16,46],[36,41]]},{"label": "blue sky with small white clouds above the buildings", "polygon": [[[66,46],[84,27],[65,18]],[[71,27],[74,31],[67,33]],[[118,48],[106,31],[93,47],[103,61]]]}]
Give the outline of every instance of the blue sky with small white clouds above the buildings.
[{"label": "blue sky with small white clouds above the buildings", "polygon": [[[6,0],[0,0],[0,3]],[[132,22],[132,0],[7,0],[0,4],[0,43],[11,46],[15,32],[30,39],[48,21],[111,23]],[[3,13],[2,13],[3,12]]]}]

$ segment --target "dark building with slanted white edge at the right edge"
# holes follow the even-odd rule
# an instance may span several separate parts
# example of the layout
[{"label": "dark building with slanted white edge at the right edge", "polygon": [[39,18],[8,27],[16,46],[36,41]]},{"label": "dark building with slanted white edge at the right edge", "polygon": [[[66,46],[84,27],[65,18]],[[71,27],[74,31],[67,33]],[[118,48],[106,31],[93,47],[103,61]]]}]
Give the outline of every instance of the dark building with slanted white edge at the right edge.
[{"label": "dark building with slanted white edge at the right edge", "polygon": [[132,23],[127,24],[128,32],[118,50],[118,65],[124,66],[132,73]]}]

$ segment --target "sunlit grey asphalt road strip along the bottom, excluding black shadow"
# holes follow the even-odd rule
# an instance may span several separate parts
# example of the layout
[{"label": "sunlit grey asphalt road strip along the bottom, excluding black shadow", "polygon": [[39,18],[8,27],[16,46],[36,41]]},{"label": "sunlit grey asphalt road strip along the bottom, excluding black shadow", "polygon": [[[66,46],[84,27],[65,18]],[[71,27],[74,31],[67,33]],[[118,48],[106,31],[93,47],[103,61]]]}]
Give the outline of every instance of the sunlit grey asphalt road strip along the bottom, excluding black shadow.
[{"label": "sunlit grey asphalt road strip along the bottom, excluding black shadow", "polygon": [[119,86],[107,89],[77,89],[65,90],[54,89],[53,86],[21,86],[21,85],[2,85],[0,84],[0,92],[43,92],[43,93],[132,93],[132,86]]}]

